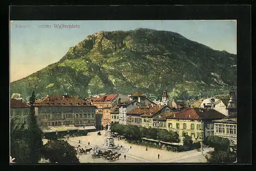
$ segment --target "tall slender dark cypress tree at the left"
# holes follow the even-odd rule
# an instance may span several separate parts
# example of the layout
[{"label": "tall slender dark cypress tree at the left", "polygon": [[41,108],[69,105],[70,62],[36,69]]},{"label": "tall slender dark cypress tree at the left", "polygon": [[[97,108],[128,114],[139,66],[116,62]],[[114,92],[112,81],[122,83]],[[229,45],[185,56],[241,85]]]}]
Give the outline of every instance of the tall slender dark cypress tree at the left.
[{"label": "tall slender dark cypress tree at the left", "polygon": [[42,132],[38,128],[37,119],[35,116],[35,91],[32,92],[29,98],[30,113],[28,116],[28,146],[30,149],[30,163],[38,163],[41,158],[42,148]]}]

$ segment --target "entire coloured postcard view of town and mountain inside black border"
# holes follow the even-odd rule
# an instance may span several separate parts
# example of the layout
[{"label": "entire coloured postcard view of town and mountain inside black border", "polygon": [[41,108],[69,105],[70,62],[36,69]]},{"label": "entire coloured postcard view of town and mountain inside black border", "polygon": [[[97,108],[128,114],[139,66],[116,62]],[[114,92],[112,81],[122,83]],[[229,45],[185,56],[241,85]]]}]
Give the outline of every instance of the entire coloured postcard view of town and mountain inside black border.
[{"label": "entire coloured postcard view of town and mountain inside black border", "polygon": [[235,20],[14,20],[10,35],[10,163],[237,162]]}]

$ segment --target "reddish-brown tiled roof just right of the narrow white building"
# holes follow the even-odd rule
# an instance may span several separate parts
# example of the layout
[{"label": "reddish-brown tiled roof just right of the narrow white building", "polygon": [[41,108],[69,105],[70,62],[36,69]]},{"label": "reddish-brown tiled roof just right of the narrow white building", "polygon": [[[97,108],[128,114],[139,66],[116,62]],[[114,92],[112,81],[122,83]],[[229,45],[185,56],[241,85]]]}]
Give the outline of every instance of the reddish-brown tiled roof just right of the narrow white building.
[{"label": "reddish-brown tiled roof just right of the narrow white building", "polygon": [[130,115],[141,115],[141,116],[152,116],[155,113],[157,113],[159,110],[163,109],[165,106],[158,106],[155,105],[154,107],[152,106],[141,106],[138,107],[134,110],[131,110],[127,112],[126,114]]}]

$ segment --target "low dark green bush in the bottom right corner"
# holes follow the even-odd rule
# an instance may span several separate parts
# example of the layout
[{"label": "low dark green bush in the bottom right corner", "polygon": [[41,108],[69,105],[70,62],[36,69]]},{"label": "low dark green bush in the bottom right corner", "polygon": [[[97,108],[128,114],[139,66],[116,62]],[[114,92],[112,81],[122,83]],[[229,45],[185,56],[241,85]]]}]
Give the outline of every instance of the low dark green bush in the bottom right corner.
[{"label": "low dark green bush in the bottom right corner", "polygon": [[208,163],[229,163],[234,162],[237,159],[237,154],[230,151],[214,151],[211,155],[205,156]]}]

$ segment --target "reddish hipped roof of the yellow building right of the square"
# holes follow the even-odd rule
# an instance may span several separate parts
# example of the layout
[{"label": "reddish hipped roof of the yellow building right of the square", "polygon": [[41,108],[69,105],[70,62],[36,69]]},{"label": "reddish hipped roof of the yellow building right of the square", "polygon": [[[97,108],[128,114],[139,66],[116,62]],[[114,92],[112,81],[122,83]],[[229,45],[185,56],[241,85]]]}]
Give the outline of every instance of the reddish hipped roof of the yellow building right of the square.
[{"label": "reddish hipped roof of the yellow building right of the square", "polygon": [[190,108],[183,110],[175,115],[170,115],[166,117],[167,119],[222,119],[225,115],[214,110],[214,109],[204,109],[204,108]]}]

